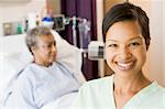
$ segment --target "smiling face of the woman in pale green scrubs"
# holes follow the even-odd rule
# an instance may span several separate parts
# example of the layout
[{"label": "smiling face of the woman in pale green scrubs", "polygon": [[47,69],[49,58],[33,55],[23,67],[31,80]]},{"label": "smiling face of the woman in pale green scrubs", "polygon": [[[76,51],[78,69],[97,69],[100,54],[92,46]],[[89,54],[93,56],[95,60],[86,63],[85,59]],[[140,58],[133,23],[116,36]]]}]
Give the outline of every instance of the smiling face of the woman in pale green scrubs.
[{"label": "smiling face of the woman in pale green scrubs", "polygon": [[119,75],[142,72],[146,61],[146,46],[136,21],[114,23],[106,34],[106,59]]}]

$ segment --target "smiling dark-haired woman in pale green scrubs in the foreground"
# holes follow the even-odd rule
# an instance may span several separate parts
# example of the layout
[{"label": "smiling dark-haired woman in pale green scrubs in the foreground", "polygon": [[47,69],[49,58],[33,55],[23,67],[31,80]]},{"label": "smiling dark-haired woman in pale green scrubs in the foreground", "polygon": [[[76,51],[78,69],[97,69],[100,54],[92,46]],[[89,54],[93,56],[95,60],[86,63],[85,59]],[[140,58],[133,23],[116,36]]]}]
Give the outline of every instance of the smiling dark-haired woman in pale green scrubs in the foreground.
[{"label": "smiling dark-haired woman in pale green scrubs in the foreground", "polygon": [[146,13],[128,2],[117,4],[103,19],[102,33],[114,74],[82,85],[75,108],[165,109],[165,89],[142,70],[151,40]]}]

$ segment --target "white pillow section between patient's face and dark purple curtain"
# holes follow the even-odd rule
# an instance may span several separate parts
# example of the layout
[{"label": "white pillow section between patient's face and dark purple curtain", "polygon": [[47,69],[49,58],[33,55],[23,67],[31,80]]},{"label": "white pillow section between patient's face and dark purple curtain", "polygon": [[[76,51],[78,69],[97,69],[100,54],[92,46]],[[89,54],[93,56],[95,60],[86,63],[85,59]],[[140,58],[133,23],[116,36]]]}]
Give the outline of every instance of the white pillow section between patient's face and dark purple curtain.
[{"label": "white pillow section between patient's face and dark purple curtain", "polygon": [[63,40],[56,31],[52,31],[57,46],[57,61],[65,63],[68,68],[74,70],[75,76],[80,83],[85,83],[86,78],[81,73],[81,51]]}]

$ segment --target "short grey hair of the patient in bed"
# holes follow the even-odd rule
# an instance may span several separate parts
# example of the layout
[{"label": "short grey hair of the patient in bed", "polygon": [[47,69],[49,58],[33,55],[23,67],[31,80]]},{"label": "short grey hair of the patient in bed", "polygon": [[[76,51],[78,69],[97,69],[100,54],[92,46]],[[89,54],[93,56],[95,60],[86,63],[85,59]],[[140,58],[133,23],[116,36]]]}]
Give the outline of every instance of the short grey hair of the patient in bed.
[{"label": "short grey hair of the patient in bed", "polygon": [[34,29],[29,30],[25,37],[25,43],[29,47],[29,51],[32,53],[31,48],[36,46],[37,37],[46,35],[53,35],[51,29],[46,26],[36,26]]}]

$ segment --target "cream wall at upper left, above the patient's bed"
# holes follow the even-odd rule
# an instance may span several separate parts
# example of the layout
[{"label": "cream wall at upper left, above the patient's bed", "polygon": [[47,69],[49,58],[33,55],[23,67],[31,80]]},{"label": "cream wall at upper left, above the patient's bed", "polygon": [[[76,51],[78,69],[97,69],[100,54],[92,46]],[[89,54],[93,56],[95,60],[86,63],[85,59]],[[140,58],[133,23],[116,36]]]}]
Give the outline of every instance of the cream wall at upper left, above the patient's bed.
[{"label": "cream wall at upper left, above the patient's bed", "polygon": [[2,36],[2,23],[24,21],[28,13],[41,13],[45,7],[45,0],[31,0],[30,2],[0,2],[0,36]]}]

